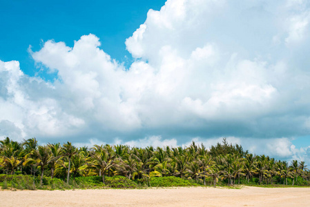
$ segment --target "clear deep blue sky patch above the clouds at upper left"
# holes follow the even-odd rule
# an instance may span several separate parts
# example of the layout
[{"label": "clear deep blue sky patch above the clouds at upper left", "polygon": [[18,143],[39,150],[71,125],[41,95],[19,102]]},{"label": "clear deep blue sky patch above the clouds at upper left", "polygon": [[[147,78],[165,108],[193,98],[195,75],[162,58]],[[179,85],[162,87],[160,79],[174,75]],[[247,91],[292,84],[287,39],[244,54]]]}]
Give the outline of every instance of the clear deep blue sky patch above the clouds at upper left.
[{"label": "clear deep blue sky patch above the clouds at upper left", "polygon": [[[159,10],[162,0],[146,1],[8,1],[0,2],[0,59],[18,60],[23,72],[34,76],[38,70],[28,47],[39,50],[42,41],[54,39],[73,46],[84,34],[96,34],[102,48],[114,59],[128,65],[131,55],[124,40],[144,23],[150,8]],[[126,57],[128,59],[126,59]],[[40,74],[46,79],[55,75]]]}]

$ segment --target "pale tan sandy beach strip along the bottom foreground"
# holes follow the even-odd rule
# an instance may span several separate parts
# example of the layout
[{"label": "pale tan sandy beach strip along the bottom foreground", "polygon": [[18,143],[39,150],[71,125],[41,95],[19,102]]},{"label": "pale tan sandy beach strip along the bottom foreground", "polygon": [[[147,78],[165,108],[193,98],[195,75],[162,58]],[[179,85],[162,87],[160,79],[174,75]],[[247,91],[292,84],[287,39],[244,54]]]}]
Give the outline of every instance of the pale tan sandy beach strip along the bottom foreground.
[{"label": "pale tan sandy beach strip along the bottom foreground", "polygon": [[0,190],[0,206],[310,206],[310,188]]}]

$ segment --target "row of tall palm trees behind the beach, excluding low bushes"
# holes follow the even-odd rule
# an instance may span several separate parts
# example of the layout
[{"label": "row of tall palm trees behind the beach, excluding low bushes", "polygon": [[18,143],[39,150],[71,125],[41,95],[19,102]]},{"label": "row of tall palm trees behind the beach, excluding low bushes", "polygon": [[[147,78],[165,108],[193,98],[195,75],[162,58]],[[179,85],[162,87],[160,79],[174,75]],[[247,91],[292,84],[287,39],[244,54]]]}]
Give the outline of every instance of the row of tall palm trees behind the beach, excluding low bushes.
[{"label": "row of tall palm trees behind the beach, excluding low bushes", "polygon": [[[125,145],[95,145],[77,148],[65,144],[39,146],[37,139],[23,142],[6,137],[0,141],[0,174],[57,177],[69,182],[75,177],[122,175],[148,182],[151,177],[180,177],[202,185],[222,181],[234,184],[309,185],[310,172],[304,161],[280,161],[253,155],[224,138],[206,148],[193,141],[188,147],[137,148]],[[34,179],[35,180],[35,179]]]}]

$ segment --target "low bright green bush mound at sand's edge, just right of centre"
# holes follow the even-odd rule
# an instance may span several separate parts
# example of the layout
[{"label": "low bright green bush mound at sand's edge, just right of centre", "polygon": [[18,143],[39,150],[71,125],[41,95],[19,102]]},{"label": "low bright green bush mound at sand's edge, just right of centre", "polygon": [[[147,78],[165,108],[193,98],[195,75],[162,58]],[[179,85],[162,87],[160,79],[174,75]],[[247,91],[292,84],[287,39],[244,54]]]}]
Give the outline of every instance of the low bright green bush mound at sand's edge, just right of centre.
[{"label": "low bright green bush mound at sand's edge, just right of centre", "polygon": [[180,177],[152,177],[150,179],[152,187],[172,187],[172,186],[198,186],[191,181],[182,179]]}]

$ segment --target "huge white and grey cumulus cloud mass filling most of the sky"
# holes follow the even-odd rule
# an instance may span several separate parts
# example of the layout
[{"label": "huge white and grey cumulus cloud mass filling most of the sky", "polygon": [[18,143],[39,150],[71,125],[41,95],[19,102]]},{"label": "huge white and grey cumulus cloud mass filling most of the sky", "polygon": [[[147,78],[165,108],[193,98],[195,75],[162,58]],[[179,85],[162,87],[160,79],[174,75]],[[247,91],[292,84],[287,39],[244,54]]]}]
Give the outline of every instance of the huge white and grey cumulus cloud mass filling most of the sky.
[{"label": "huge white and grey cumulus cloud mass filling most of the sky", "polygon": [[126,39],[129,68],[95,34],[72,48],[46,41],[30,54],[57,72],[53,83],[0,61],[0,127],[19,139],[79,144],[264,138],[278,143],[262,146],[268,152],[297,156],[278,137],[310,132],[309,8],[307,1],[168,0]]}]

